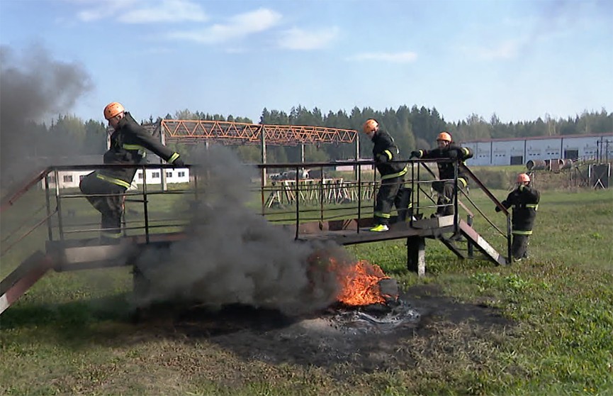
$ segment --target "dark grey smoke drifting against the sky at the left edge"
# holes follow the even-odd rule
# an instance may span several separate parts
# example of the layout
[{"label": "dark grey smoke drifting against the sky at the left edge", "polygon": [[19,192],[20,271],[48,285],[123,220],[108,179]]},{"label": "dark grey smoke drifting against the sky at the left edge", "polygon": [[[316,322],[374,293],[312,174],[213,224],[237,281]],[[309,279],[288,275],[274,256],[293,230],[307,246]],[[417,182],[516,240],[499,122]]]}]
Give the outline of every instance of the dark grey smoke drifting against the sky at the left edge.
[{"label": "dark grey smoke drifting against the sky at the left edge", "polygon": [[82,67],[52,59],[40,45],[21,55],[0,46],[0,167],[4,185],[51,165],[34,158],[69,153],[70,147],[57,144],[40,123],[47,117],[67,114],[90,89],[89,75]]}]

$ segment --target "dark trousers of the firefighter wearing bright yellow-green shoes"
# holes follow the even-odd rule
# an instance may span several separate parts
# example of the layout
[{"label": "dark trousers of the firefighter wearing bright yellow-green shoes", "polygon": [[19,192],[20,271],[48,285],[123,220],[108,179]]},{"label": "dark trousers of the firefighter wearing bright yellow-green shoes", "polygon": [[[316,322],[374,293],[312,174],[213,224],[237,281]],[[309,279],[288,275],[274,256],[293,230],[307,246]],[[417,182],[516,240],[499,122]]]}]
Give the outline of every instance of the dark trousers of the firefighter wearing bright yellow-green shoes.
[{"label": "dark trousers of the firefighter wearing bright yellow-green shoes", "polygon": [[403,187],[404,183],[403,176],[381,180],[381,187],[377,192],[375,204],[374,219],[376,224],[389,224],[393,205],[398,211],[398,218],[406,219],[412,190]]}]

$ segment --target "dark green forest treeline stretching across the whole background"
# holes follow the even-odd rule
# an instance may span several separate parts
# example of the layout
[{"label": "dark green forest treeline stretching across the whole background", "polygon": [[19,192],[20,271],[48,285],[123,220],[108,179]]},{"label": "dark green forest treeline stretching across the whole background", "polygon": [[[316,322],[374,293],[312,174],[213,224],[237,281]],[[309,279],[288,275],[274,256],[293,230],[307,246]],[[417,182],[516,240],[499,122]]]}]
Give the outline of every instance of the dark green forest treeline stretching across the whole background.
[{"label": "dark green forest treeline stretching across the whole background", "polygon": [[[137,115],[135,115],[137,116]],[[376,111],[371,108],[359,109],[354,107],[351,112],[339,110],[324,114],[320,109],[309,110],[304,106],[296,106],[289,113],[264,108],[257,123],[274,125],[310,125],[327,126],[330,128],[356,129],[366,119],[374,118],[379,121],[381,128],[385,129],[395,139],[400,153],[407,156],[416,148],[431,148],[440,131],[449,131],[455,141],[487,140],[490,138],[521,138],[532,136],[563,136],[592,133],[612,133],[613,113],[601,111],[585,111],[583,114],[569,116],[567,119],[536,119],[535,121],[520,121],[517,123],[502,123],[494,114],[489,120],[476,114],[466,120],[446,122],[437,109],[427,109],[422,106],[400,106],[398,109]],[[142,123],[154,123],[161,118],[144,119]],[[164,119],[199,119],[208,121],[235,121],[241,123],[254,123],[247,117],[223,116],[221,114],[208,114],[200,111],[191,112],[187,109],[176,111],[174,115],[167,114]],[[50,126],[31,126],[30,131],[35,132],[37,138],[30,143],[35,146],[35,152],[45,153],[52,150],[52,154],[73,154],[77,150],[81,154],[101,154],[106,150],[106,123],[100,121],[82,121],[75,116],[59,116]],[[363,140],[360,146],[360,155],[369,158],[371,144]],[[193,145],[176,144],[176,150],[189,155],[194,150]],[[36,150],[38,146],[39,150]],[[31,148],[31,147],[30,147]],[[65,150],[68,149],[68,150]],[[249,145],[237,145],[233,148],[240,157],[250,163],[260,162],[260,150]],[[308,145],[305,147],[306,161],[327,161],[354,158],[355,148],[347,144]],[[269,163],[298,162],[300,160],[300,147],[271,146],[267,150]]]}]

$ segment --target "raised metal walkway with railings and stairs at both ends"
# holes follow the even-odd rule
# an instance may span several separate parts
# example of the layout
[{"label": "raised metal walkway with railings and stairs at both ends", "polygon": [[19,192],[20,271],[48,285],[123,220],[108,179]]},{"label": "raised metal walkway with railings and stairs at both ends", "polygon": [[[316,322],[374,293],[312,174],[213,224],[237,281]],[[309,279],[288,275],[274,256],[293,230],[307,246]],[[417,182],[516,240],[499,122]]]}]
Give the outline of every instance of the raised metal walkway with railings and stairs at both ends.
[{"label": "raised metal walkway with railings and stairs at both ends", "polygon": [[[440,160],[439,160],[440,161]],[[449,161],[449,160],[447,160]],[[507,256],[497,252],[485,238],[473,227],[476,214],[468,209],[474,205],[467,192],[458,188],[457,177],[454,180],[456,197],[455,214],[437,218],[428,218],[427,212],[436,208],[431,185],[434,172],[424,160],[406,161],[410,167],[410,187],[415,192],[412,196],[414,217],[399,220],[390,219],[388,232],[369,232],[373,223],[373,199],[378,187],[375,180],[362,180],[361,167],[371,166],[371,161],[354,161],[358,172],[356,180],[348,180],[342,199],[335,197],[339,185],[326,181],[324,169],[334,163],[293,163],[257,165],[262,174],[266,169],[275,167],[293,168],[296,180],[284,185],[284,194],[293,197],[279,207],[267,205],[267,198],[279,189],[279,186],[265,186],[263,182],[248,186],[251,192],[261,197],[261,215],[271,224],[282,227],[295,241],[325,240],[339,245],[371,243],[393,239],[407,241],[407,269],[424,275],[425,240],[441,241],[458,258],[473,258],[474,251],[483,253],[483,257],[495,265],[508,264],[510,255],[510,212],[489,192],[473,173],[468,176],[481,189],[491,202],[502,209],[506,216],[506,230],[498,229],[485,215],[483,217],[494,226],[506,241]],[[184,226],[189,224],[189,213],[179,218],[173,211],[165,211],[168,205],[159,206],[158,199],[185,199],[198,204],[200,194],[207,194],[206,173],[199,174],[196,167],[190,166],[190,182],[179,189],[161,188],[159,182],[150,183],[143,180],[137,189],[125,192],[125,211],[123,219],[123,238],[117,244],[104,244],[98,237],[100,230],[99,214],[86,201],[84,194],[75,189],[61,189],[59,183],[50,185],[50,180],[57,180],[59,172],[65,170],[96,170],[112,165],[74,165],[47,167],[36,177],[27,180],[16,192],[6,195],[1,201],[3,238],[1,241],[1,258],[4,263],[12,263],[12,272],[0,282],[0,314],[17,302],[29,287],[43,277],[49,270],[63,272],[93,268],[110,268],[133,266],[135,293],[142,292],[149,285],[143,279],[134,263],[150,246],[168,248],[175,241],[188,238]],[[172,165],[143,164],[131,165],[142,170],[151,168],[168,170]],[[299,179],[298,170],[304,166],[319,167],[322,177],[311,180],[307,185]],[[456,170],[459,166],[456,163]],[[371,171],[372,172],[372,171]],[[163,173],[163,172],[162,172]],[[457,175],[457,172],[456,172]],[[317,194],[315,194],[317,191]],[[310,195],[309,195],[310,194]],[[467,214],[466,221],[459,216],[459,209]],[[476,207],[478,214],[483,214]],[[504,229],[504,227],[502,227]],[[461,235],[464,242],[454,241],[450,237]],[[36,248],[38,241],[43,241],[44,248]]]}]

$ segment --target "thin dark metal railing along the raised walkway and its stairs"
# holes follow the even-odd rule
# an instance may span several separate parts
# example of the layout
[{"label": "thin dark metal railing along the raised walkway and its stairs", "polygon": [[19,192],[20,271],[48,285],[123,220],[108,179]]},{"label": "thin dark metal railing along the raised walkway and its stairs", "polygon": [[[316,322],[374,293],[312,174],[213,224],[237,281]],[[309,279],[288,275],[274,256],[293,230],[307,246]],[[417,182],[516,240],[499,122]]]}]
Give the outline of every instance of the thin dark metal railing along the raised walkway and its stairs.
[{"label": "thin dark metal railing along the raised walkway and its stairs", "polygon": [[[409,167],[410,172],[407,172],[407,180],[405,185],[410,185],[412,188],[412,207],[415,215],[424,214],[424,211],[437,207],[431,186],[432,181],[438,180],[436,173],[430,169],[429,163],[437,162],[454,162],[451,160],[407,160],[403,161]],[[397,161],[398,162],[398,161]],[[473,212],[466,207],[459,199],[466,199],[478,213],[483,216],[494,228],[505,235],[505,232],[498,229],[488,216],[481,211],[468,194],[458,187],[458,171],[459,167],[463,167],[463,171],[473,182],[489,197],[497,207],[500,207],[502,212],[507,216],[507,251],[510,255],[510,213],[502,207],[502,204],[493,196],[493,194],[478,180],[478,178],[465,165],[454,162],[455,177],[453,180],[440,180],[442,182],[453,182],[454,189],[457,192],[454,194],[454,229],[458,231],[459,227],[459,207],[466,209],[470,218],[474,216]],[[337,165],[350,165],[353,167],[352,177],[339,177],[339,173],[334,172],[334,167]],[[299,236],[300,224],[305,222],[318,221],[320,229],[324,221],[338,219],[356,219],[358,222],[361,219],[368,219],[373,216],[374,202],[380,181],[378,180],[378,172],[373,170],[373,161],[358,160],[358,161],[342,161],[336,163],[281,163],[281,164],[259,164],[251,165],[257,167],[261,173],[259,185],[251,185],[249,192],[259,194],[259,207],[262,216],[273,223],[279,224],[294,224],[296,226],[296,238]],[[142,165],[74,165],[74,166],[55,166],[47,167],[32,180],[26,182],[20,189],[13,194],[7,195],[1,202],[1,212],[13,207],[26,192],[40,186],[44,190],[42,202],[38,201],[40,207],[32,208],[30,215],[40,215],[45,210],[45,216],[34,221],[23,219],[15,231],[9,232],[6,238],[2,238],[2,252],[4,255],[19,241],[28,237],[36,229],[47,227],[48,241],[64,241],[67,238],[81,237],[101,231],[98,221],[91,221],[91,214],[97,212],[91,208],[89,202],[86,202],[86,195],[80,191],[74,192],[70,189],[60,188],[60,172],[65,171],[94,171],[113,167],[132,167],[142,171],[142,184],[137,189],[128,189],[124,196],[125,202],[133,207],[140,207],[139,210],[133,210],[137,214],[137,219],[128,219],[124,211],[123,233],[140,233],[144,234],[145,241],[150,242],[150,235],[153,232],[169,228],[180,228],[189,223],[189,213],[184,218],[176,217],[176,212],[171,212],[172,216],[166,216],[159,219],[152,218],[152,210],[157,211],[155,205],[152,207],[152,200],[157,195],[170,194],[191,194],[191,201],[198,202],[199,195],[206,193],[204,186],[206,185],[206,172],[200,174],[200,169],[196,165],[186,165],[189,169],[189,183],[181,185],[179,188],[174,187],[168,189],[164,182],[165,170],[173,168],[172,165],[162,164],[142,164]],[[162,177],[160,180],[147,180],[146,170],[160,170]],[[305,169],[310,170],[310,175],[317,177],[305,177]],[[265,175],[269,170],[286,170],[287,175],[284,180],[268,179]],[[409,177],[410,175],[410,177]],[[51,182],[51,177],[55,183]],[[154,189],[152,186],[160,185],[159,189]],[[424,203],[422,199],[427,199]],[[86,205],[79,209],[87,211],[89,217],[87,221],[72,221],[67,202],[78,201]],[[81,207],[82,208],[82,207]],[[255,209],[257,211],[257,209]],[[130,212],[130,211],[128,211]],[[130,212],[131,213],[131,212]],[[163,214],[168,214],[168,211],[162,211]],[[74,215],[74,213],[73,213]],[[412,220],[410,220],[412,221]],[[356,228],[356,232],[360,232],[360,228]]]}]

